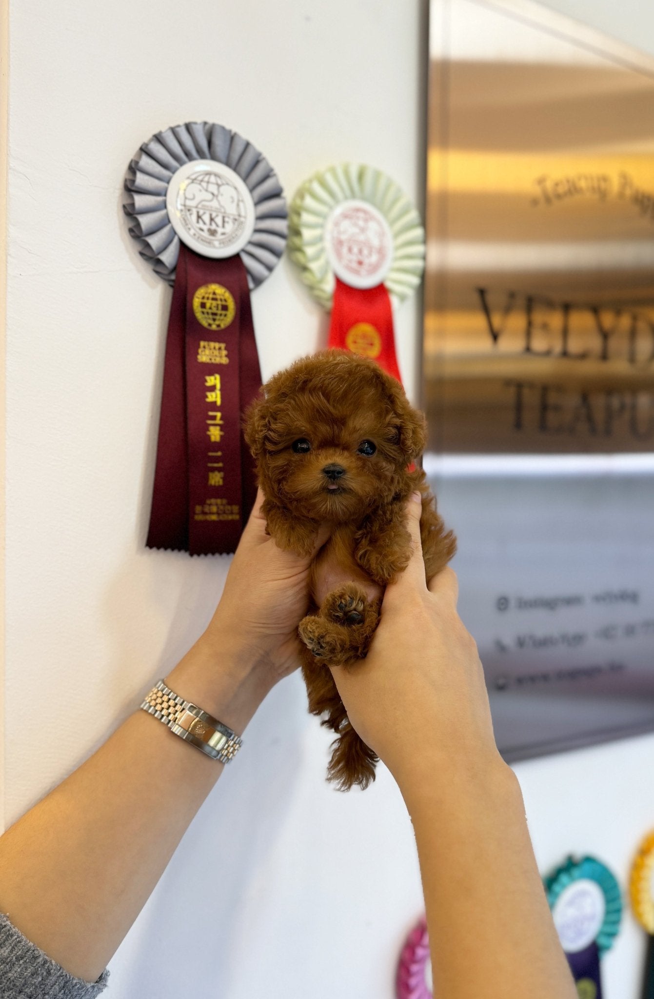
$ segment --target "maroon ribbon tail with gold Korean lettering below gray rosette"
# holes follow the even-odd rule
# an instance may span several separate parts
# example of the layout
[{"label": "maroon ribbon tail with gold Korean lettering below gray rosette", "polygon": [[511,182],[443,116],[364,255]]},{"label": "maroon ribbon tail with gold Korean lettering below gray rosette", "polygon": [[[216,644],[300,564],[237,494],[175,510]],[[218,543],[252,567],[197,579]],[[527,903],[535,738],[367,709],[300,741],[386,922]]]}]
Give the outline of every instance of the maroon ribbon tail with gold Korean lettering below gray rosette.
[{"label": "maroon ribbon tail with gold Korean lettering below gray rosette", "polygon": [[243,414],[262,379],[246,268],[180,246],[148,547],[236,549],[257,496]]}]

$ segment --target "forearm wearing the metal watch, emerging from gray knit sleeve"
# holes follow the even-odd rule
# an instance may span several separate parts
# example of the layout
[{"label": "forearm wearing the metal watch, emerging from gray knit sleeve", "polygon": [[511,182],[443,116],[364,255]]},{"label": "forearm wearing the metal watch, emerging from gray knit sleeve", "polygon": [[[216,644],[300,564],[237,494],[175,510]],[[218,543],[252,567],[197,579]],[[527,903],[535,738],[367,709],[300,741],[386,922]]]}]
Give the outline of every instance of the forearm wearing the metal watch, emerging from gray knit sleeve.
[{"label": "forearm wearing the metal watch, emerging from gray knit sleeve", "polygon": [[[201,639],[176,692],[241,733],[272,685],[266,664]],[[161,877],[223,766],[136,710],[0,837],[0,910],[71,973],[94,981]]]}]

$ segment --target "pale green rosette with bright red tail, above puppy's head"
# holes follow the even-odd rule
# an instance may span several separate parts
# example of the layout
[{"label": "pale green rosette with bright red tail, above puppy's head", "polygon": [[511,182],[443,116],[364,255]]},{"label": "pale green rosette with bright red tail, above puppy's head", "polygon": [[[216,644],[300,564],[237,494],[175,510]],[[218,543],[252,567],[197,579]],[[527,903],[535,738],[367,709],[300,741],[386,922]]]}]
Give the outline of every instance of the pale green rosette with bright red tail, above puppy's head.
[{"label": "pale green rosette with bright red tail, above puppy's head", "polygon": [[410,295],[424,270],[424,230],[406,195],[373,167],[320,171],[291,205],[289,251],[331,308],[327,347],[373,358],[399,381],[391,300]]}]

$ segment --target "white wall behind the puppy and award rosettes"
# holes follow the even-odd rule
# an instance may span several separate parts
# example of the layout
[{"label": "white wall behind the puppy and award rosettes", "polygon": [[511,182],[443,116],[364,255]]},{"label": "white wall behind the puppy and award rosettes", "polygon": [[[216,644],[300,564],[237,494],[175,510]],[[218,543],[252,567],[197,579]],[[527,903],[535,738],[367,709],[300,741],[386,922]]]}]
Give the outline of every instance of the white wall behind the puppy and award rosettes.
[{"label": "white wall behind the puppy and award rosettes", "polygon": [[[165,674],[228,564],[144,547],[170,291],[127,235],[127,163],[153,132],[208,119],[259,145],[290,196],[348,159],[419,202],[425,44],[418,0],[14,0],[10,15],[5,824]],[[286,261],[254,311],[265,378],[325,341]],[[417,329],[406,304],[412,394]],[[178,996],[186,960],[224,999],[390,999],[422,904],[411,826],[383,771],[364,794],[327,788],[327,741],[300,679],[278,687],[112,961],[115,999]],[[654,824],[653,768],[654,737],[521,764],[541,867],[592,851],[624,881]],[[628,925],[606,999],[636,996],[641,945]]]}]

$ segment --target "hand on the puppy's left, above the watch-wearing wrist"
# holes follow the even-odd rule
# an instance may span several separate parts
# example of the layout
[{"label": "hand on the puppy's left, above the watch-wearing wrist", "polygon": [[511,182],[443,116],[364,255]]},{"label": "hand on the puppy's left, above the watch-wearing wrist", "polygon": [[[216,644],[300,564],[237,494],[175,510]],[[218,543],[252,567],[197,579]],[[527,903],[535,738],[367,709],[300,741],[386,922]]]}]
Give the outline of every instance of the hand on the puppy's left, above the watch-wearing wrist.
[{"label": "hand on the puppy's left, above the watch-wearing wrist", "polygon": [[328,527],[320,526],[309,554],[283,550],[266,533],[263,499],[260,490],[203,637],[219,651],[227,647],[248,664],[264,665],[275,683],[300,665],[298,624],[309,604],[309,569]]}]

